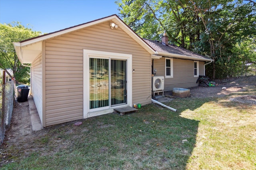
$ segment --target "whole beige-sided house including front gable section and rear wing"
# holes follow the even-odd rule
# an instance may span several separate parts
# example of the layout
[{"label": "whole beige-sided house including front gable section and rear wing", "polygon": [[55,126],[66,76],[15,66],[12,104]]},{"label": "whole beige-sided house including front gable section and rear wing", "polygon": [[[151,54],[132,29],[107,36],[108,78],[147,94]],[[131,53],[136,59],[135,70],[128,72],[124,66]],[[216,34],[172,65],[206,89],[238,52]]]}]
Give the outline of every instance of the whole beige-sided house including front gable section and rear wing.
[{"label": "whole beige-sided house including front gable section and rear wing", "polygon": [[[167,83],[197,86],[194,72],[203,74],[205,62],[212,60],[186,51],[172,54],[160,50],[159,44],[143,40],[112,15],[14,46],[20,62],[31,63],[30,89],[42,126],[47,127],[134,103],[150,104],[153,61],[156,74],[170,76]],[[165,64],[168,59],[171,65]]]}]

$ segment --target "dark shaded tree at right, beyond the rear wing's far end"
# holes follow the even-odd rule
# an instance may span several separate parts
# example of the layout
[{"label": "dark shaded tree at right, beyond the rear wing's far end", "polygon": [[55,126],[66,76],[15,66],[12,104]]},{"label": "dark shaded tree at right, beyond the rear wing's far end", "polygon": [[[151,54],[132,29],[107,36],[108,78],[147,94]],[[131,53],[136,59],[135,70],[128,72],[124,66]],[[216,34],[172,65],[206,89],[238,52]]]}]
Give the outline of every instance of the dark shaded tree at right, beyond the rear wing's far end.
[{"label": "dark shaded tree at right, beyond the rear wing's far end", "polygon": [[239,68],[236,68],[238,53],[234,53],[232,49],[236,48],[238,42],[255,35],[255,7],[245,4],[242,0],[236,3],[232,0],[189,1],[193,5],[192,10],[204,25],[198,47],[203,47],[204,44],[210,47],[208,55],[214,59],[212,78],[216,75],[216,64],[222,66],[222,72],[226,73],[230,73],[231,70],[228,70],[225,64],[232,63],[233,70]]}]

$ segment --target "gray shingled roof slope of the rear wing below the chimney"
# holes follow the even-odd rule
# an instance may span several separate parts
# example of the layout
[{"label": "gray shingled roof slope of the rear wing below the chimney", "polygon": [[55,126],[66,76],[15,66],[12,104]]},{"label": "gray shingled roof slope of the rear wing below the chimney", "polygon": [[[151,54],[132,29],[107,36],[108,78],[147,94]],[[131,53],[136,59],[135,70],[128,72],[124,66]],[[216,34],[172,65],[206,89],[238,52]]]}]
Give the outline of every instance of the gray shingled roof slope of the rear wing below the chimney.
[{"label": "gray shingled roof slope of the rear wing below the chimney", "polygon": [[196,57],[199,60],[209,60],[210,58],[205,57],[203,55],[200,55],[198,53],[194,53],[192,51],[189,51],[187,49],[178,47],[176,45],[163,45],[159,41],[153,41],[153,40],[148,40],[148,39],[143,39],[150,47],[152,47],[155,51],[162,52],[162,53],[170,53],[171,54],[176,54],[176,55],[183,55],[184,57]]}]

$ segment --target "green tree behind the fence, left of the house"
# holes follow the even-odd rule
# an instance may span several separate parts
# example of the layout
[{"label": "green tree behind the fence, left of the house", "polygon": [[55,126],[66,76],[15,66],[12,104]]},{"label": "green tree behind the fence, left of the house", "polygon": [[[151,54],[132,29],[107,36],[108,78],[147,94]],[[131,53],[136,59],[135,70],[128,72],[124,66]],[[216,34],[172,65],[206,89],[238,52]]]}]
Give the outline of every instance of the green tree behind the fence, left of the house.
[{"label": "green tree behind the fence, left of the house", "polygon": [[9,76],[12,75],[7,69],[12,69],[16,82],[26,82],[30,68],[22,66],[18,60],[13,42],[36,37],[40,34],[41,32],[32,31],[19,22],[0,23],[0,68],[4,69]]}]

